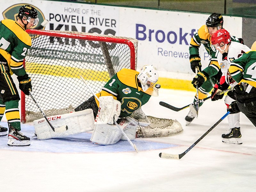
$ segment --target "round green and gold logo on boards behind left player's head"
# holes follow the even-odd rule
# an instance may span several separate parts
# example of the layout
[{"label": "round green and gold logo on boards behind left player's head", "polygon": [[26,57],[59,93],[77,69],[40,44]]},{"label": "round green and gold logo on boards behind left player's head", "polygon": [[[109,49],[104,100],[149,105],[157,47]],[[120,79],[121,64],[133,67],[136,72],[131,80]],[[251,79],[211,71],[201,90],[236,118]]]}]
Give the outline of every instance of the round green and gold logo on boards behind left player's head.
[{"label": "round green and gold logo on boards behind left player's head", "polygon": [[[12,5],[8,8],[6,8],[3,12],[3,17],[4,19],[11,19],[11,20],[15,20],[17,21],[17,18],[18,18],[18,13],[19,13],[19,10],[20,10],[20,7],[22,7],[23,5],[26,5],[25,3],[21,3],[21,4],[15,4],[15,5]],[[31,4],[29,4],[31,5]],[[44,20],[45,20],[45,17],[44,17],[44,14],[42,13],[42,11],[40,9],[38,9],[36,6],[34,5],[31,5],[32,7],[34,7],[37,11],[37,17],[39,19],[39,22],[36,26],[32,27],[32,28],[35,28],[37,27],[38,25],[40,25]]]}]

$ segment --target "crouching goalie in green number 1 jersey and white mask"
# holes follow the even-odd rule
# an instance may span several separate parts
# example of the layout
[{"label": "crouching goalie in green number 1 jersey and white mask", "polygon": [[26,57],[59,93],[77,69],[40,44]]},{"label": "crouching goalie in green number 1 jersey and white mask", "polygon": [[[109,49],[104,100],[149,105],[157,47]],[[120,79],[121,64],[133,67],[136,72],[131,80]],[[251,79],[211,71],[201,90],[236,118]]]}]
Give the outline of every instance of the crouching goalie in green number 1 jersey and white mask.
[{"label": "crouching goalie in green number 1 jersey and white mask", "polygon": [[[141,68],[140,72],[124,68],[104,85],[101,92],[96,94],[99,99],[111,96],[116,101],[114,106],[118,106],[119,113],[116,112],[118,111],[117,107],[113,108],[113,110],[110,109],[108,112],[104,111],[104,113],[114,114],[119,117],[117,123],[121,128],[124,128],[124,132],[130,140],[135,138],[138,126],[133,121],[135,119],[132,119],[130,116],[135,110],[140,110],[140,107],[147,103],[151,96],[158,96],[158,90],[154,87],[157,80],[158,73],[153,66],[145,65]],[[105,107],[101,107],[101,103],[94,96],[79,105],[75,111],[88,108],[92,108],[94,117],[96,117],[95,121],[97,121],[99,113],[104,114],[101,110]],[[113,120],[113,116],[109,119]],[[122,132],[112,123],[96,124],[91,141],[102,145],[110,145],[115,144],[120,139],[122,140]],[[105,134],[102,134],[102,132]]]}]

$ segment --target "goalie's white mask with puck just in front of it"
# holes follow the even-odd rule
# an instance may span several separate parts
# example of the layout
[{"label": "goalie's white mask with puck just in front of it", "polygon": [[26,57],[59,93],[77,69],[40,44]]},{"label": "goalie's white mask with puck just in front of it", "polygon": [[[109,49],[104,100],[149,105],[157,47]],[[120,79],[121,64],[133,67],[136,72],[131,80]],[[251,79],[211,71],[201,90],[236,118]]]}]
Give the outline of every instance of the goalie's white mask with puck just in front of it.
[{"label": "goalie's white mask with puck just in front of it", "polygon": [[140,80],[141,88],[145,92],[149,87],[153,87],[158,80],[158,73],[153,65],[144,65],[140,69],[137,77]]}]

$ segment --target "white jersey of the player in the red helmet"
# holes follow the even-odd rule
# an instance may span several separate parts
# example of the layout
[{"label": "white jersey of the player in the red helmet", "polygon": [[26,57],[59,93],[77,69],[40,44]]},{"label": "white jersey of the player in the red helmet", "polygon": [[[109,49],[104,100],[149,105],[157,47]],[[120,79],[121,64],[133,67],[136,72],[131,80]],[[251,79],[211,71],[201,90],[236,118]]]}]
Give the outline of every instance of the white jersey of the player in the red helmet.
[{"label": "white jersey of the player in the red helmet", "polygon": [[222,76],[225,76],[226,83],[231,87],[234,87],[238,83],[231,77],[228,71],[230,63],[248,51],[251,51],[251,49],[246,45],[232,41],[228,47],[228,53],[221,54],[219,51],[217,53],[217,60],[221,68]]}]

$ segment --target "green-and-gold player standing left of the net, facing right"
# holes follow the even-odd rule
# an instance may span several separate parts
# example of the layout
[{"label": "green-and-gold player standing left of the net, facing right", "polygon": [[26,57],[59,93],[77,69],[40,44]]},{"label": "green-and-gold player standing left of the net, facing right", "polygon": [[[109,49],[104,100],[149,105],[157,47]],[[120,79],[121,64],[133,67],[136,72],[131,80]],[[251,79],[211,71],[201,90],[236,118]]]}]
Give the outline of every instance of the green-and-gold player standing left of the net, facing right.
[{"label": "green-and-gold player standing left of the net, facing right", "polygon": [[[14,73],[18,76],[20,90],[28,95],[32,85],[23,67],[23,59],[31,47],[31,38],[26,29],[35,26],[37,22],[37,12],[30,5],[20,8],[17,21],[4,19],[0,22],[0,120],[5,111],[9,126],[9,146],[30,145],[30,138],[20,132],[20,97],[11,75]],[[7,135],[7,131],[7,128],[0,127],[1,136]]]}]

